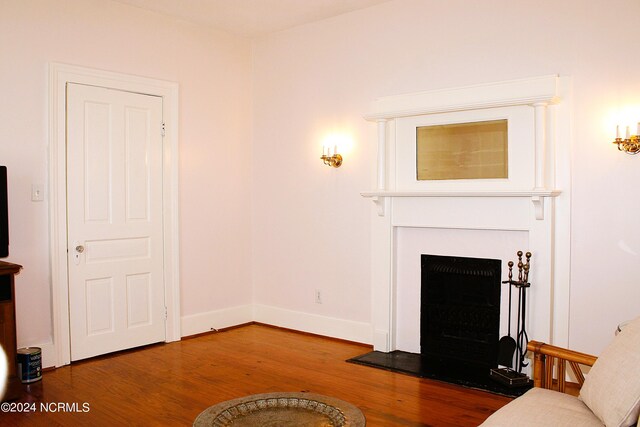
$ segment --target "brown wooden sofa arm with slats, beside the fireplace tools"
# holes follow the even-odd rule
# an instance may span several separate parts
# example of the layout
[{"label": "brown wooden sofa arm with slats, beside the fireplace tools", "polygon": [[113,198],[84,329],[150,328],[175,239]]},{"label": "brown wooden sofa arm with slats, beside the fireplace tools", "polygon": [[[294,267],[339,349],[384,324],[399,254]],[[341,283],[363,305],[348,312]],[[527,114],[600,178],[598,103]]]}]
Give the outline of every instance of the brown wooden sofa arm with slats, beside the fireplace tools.
[{"label": "brown wooden sofa arm with slats, beside the fireplace tools", "polygon": [[[578,390],[584,383],[580,365],[593,366],[597,357],[562,347],[529,341],[527,350],[533,353],[533,385],[562,393],[566,392],[566,363],[578,381]],[[555,363],[554,363],[555,362]],[[555,370],[554,370],[555,367]]]}]

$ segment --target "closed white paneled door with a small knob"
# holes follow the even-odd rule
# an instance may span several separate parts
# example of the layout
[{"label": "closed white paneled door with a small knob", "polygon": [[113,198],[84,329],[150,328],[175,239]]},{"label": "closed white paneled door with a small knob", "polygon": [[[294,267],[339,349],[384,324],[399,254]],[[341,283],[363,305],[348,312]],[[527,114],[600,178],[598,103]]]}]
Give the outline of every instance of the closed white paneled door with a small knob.
[{"label": "closed white paneled door with a small knob", "polygon": [[71,360],[165,340],[162,98],[67,85]]}]

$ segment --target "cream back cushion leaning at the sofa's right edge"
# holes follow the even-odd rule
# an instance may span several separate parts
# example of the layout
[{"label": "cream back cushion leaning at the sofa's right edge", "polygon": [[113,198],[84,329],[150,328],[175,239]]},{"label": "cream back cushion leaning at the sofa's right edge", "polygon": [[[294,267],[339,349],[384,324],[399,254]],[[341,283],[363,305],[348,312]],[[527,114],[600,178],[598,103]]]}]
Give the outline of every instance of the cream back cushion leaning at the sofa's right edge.
[{"label": "cream back cushion leaning at the sofa's right edge", "polygon": [[640,317],[598,356],[580,399],[608,427],[632,426],[640,412]]}]

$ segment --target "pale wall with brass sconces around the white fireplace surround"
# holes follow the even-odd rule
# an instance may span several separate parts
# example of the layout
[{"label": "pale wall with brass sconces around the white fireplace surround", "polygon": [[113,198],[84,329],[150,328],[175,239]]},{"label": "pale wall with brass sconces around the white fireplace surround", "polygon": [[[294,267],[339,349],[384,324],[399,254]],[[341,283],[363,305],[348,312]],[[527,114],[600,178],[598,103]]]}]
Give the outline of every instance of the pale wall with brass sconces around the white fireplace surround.
[{"label": "pale wall with brass sconces around the white fireplace surround", "polygon": [[[573,78],[570,344],[599,353],[640,314],[640,159],[613,115],[640,106],[636,0],[396,0],[256,40],[252,251],[255,302],[370,319],[369,215],[376,97],[532,76]],[[640,119],[640,113],[636,116]],[[337,170],[321,137],[351,133]],[[320,289],[323,304],[314,304]],[[534,338],[534,337],[532,337]]]}]

